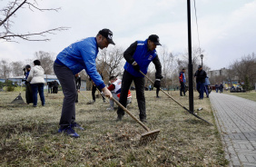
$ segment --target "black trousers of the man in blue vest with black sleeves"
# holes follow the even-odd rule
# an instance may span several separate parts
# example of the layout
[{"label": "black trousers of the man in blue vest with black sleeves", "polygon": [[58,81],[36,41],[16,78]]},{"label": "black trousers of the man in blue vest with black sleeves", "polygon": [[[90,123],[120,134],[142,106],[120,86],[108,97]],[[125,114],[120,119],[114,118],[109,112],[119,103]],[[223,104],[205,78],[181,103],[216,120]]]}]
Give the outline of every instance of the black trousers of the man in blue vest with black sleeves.
[{"label": "black trousers of the man in blue vest with black sleeves", "polygon": [[[132,74],[129,74],[126,70],[124,70],[119,103],[121,103],[123,106],[126,106],[127,95],[132,82],[135,83],[136,98],[140,109],[140,119],[146,119],[146,103],[144,96],[145,79],[143,77],[135,77]],[[121,107],[118,107],[117,114],[124,114]]]}]

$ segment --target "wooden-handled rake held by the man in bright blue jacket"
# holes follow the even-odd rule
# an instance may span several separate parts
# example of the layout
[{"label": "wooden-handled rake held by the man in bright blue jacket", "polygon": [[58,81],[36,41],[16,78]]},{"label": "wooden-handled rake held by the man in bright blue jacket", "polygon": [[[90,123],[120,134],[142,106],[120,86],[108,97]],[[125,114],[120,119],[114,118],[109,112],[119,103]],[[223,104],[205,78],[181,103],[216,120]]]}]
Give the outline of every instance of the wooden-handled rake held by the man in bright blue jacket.
[{"label": "wooden-handled rake held by the man in bright blue jacket", "polygon": [[120,106],[126,113],[128,113],[137,123],[143,126],[143,128],[147,131],[147,133],[143,133],[139,145],[146,145],[149,142],[154,141],[157,138],[157,135],[160,133],[160,130],[151,131],[144,123],[138,120],[132,113],[130,113],[121,103],[112,98],[112,100]]}]

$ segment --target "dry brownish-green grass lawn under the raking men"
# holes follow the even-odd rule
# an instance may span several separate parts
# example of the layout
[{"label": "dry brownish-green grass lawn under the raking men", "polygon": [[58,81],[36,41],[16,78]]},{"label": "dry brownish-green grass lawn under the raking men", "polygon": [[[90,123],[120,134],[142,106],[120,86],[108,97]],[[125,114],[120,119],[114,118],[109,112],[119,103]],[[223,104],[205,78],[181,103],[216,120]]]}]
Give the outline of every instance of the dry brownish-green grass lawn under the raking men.
[{"label": "dry brownish-green grass lawn under the raking men", "polygon": [[[91,92],[83,92],[91,99]],[[138,117],[139,111],[133,93],[128,110]],[[171,93],[171,92],[170,92]],[[189,106],[188,96],[172,96]],[[76,103],[76,122],[84,131],[76,130],[74,139],[56,133],[64,95],[45,94],[46,105],[34,108],[32,104],[12,104],[18,95],[0,92],[0,166],[227,166],[222,142],[216,126],[185,112],[160,92],[145,91],[148,123],[151,129],[160,129],[156,141],[139,146],[145,130],[125,114],[122,122],[115,122],[116,110],[106,111],[109,103],[96,99],[94,104],[79,95]],[[209,99],[197,100],[195,109],[205,120],[214,123]],[[25,99],[25,92],[22,92]],[[116,105],[115,105],[116,108]],[[188,108],[188,107],[187,107]],[[214,123],[215,124],[215,123]]]}]

